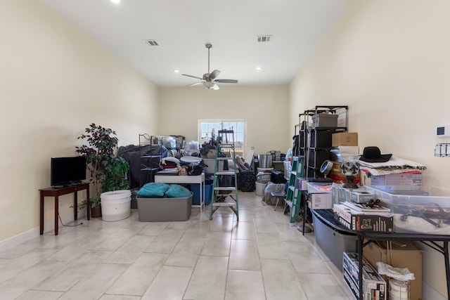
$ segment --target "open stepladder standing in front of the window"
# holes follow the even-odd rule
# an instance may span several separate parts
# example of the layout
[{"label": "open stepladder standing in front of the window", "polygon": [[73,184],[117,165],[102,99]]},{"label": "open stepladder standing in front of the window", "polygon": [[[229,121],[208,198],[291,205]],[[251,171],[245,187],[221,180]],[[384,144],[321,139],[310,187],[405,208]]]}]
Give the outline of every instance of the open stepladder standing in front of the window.
[{"label": "open stepladder standing in front of the window", "polygon": [[[236,174],[236,153],[234,151],[234,131],[231,130],[219,130],[217,136],[217,151],[216,160],[214,164],[214,180],[213,180],[213,192],[212,200],[210,204],[210,220],[212,220],[212,214],[214,214],[219,207],[229,207],[235,214],[237,221],[239,221],[239,209],[238,209],[238,177]],[[222,155],[225,154],[225,157]],[[228,160],[233,161],[233,166],[225,164]],[[228,165],[228,170],[220,170],[220,166]],[[233,186],[224,186],[221,184],[221,176],[231,177]]]}]

